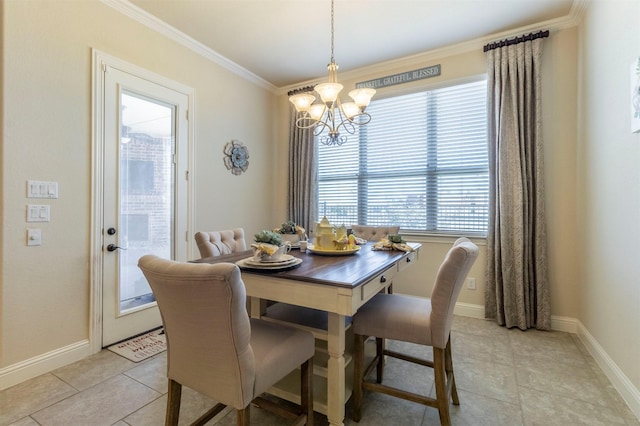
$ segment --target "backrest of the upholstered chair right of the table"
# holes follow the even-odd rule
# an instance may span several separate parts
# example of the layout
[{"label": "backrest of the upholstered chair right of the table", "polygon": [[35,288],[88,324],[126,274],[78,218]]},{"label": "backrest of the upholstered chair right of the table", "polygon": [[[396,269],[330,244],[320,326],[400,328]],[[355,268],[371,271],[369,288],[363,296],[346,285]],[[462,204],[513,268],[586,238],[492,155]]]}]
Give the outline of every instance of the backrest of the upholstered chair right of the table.
[{"label": "backrest of the upholstered chair right of the table", "polygon": [[444,348],[453,323],[453,309],[469,270],[478,257],[478,247],[468,238],[458,238],[438,269],[431,292],[431,341]]}]

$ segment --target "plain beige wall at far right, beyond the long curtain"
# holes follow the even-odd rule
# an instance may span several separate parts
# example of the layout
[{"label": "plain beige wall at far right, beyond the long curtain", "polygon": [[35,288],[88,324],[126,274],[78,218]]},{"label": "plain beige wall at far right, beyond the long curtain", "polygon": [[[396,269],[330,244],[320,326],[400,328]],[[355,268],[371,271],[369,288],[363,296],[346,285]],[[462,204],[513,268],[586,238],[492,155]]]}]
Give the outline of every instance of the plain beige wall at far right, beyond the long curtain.
[{"label": "plain beige wall at far right, beyond the long curtain", "polygon": [[640,415],[640,134],[630,131],[640,2],[591,2],[580,43],[578,318],[635,387]]}]

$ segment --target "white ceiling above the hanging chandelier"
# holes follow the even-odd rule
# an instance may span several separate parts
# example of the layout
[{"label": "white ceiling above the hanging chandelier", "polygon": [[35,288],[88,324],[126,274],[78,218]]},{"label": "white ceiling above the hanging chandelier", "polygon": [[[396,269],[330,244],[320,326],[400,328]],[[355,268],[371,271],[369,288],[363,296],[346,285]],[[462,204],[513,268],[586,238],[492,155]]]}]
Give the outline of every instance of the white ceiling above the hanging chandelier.
[{"label": "white ceiling above the hanging chandelier", "polygon": [[[581,1],[335,0],[334,56],[344,72],[470,40],[519,35],[514,32],[568,17]],[[326,75],[330,0],[130,3],[276,88]]]}]

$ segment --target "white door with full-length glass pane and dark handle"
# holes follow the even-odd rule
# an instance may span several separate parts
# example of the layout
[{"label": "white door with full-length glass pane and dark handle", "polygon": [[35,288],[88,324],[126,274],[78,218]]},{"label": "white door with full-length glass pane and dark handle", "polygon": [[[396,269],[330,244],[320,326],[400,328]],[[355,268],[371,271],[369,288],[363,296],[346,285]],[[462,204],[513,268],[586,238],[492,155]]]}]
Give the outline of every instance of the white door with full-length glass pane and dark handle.
[{"label": "white door with full-length glass pane and dark handle", "polygon": [[102,347],[162,322],[138,259],[187,260],[185,93],[116,67],[104,72]]}]

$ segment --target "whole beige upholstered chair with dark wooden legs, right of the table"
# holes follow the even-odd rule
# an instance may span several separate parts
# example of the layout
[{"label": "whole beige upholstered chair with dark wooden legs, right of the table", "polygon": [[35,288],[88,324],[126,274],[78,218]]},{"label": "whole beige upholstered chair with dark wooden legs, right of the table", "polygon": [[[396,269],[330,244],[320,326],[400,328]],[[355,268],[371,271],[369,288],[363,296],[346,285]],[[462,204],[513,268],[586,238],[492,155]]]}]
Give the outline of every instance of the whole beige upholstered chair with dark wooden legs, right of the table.
[{"label": "whole beige upholstered chair with dark wooden legs, right of the table", "polygon": [[[478,247],[467,238],[459,238],[438,269],[430,299],[379,293],[358,310],[353,317],[355,421],[360,421],[363,390],[366,389],[435,407],[439,411],[440,423],[451,424],[449,401],[453,400],[455,405],[460,404],[451,359],[453,308],[477,257]],[[365,369],[364,345],[370,336],[376,340],[376,355]],[[433,361],[388,350],[384,339],[431,346]],[[436,398],[382,384],[385,355],[433,368]],[[367,381],[374,367],[377,376],[375,383]]]}]

